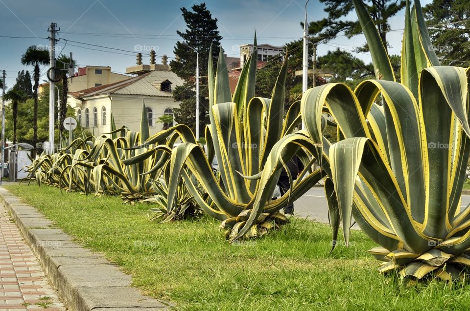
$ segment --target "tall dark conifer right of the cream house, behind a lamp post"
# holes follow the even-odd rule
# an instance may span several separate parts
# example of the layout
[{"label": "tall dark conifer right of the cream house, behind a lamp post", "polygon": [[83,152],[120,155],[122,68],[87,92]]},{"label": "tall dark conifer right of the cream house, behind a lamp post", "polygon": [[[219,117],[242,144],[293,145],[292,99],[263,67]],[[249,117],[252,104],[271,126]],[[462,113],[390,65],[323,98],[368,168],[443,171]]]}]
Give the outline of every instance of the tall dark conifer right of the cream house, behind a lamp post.
[{"label": "tall dark conifer right of the cream house, behind a lamp post", "polygon": [[[212,18],[205,3],[193,5],[191,10],[181,8],[187,29],[184,32],[177,31],[182,41],[176,42],[173,50],[176,59],[170,62],[171,70],[185,81],[183,86],[177,86],[173,91],[174,100],[181,101],[180,107],[174,111],[174,119],[180,124],[187,124],[193,130],[197,125],[200,132],[203,133],[206,124],[209,123],[209,90],[207,87],[209,49],[212,44],[212,58],[216,60],[222,37],[217,30],[217,19]],[[199,54],[199,124],[195,123],[196,53],[183,42],[187,42],[188,46],[196,49]],[[216,63],[214,61],[214,70]]]}]

